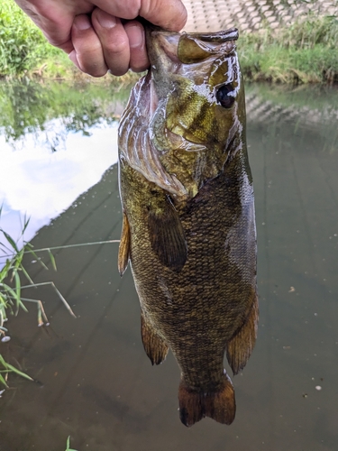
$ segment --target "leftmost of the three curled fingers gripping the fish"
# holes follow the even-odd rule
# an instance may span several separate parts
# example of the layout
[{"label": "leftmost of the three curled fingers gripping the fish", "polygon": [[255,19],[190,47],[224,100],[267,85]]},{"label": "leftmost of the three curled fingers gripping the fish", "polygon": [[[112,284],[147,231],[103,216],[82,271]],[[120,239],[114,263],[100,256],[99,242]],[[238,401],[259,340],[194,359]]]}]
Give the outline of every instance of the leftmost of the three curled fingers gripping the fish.
[{"label": "leftmost of the three curled fingers gripping the fish", "polygon": [[75,17],[71,38],[78,64],[75,62],[74,53],[70,54],[69,58],[83,72],[93,77],[103,77],[108,70],[105,64],[104,51],[87,14],[80,14]]}]

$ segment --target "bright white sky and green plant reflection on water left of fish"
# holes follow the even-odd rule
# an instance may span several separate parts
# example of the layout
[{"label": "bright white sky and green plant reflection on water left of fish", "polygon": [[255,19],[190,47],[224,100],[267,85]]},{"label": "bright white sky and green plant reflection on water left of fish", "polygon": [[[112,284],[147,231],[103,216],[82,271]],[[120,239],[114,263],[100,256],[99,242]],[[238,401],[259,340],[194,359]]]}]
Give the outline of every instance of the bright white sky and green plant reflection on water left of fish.
[{"label": "bright white sky and green plant reflection on water left of fish", "polygon": [[21,236],[23,216],[30,222],[21,243],[117,161],[116,117],[124,97],[109,86],[0,84],[1,226],[14,239]]}]

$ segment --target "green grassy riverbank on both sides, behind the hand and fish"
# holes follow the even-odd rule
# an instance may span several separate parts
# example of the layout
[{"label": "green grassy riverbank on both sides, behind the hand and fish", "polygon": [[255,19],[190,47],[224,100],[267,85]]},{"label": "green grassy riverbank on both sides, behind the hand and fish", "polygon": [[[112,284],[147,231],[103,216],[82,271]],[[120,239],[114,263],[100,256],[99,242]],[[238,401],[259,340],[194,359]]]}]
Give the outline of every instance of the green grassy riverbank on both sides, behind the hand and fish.
[{"label": "green grassy riverbank on both sides, behind the hand and fish", "polygon": [[[261,27],[243,32],[238,41],[242,72],[246,80],[270,82],[338,83],[338,17],[306,14],[279,30]],[[68,55],[53,48],[40,30],[14,4],[2,0],[0,9],[1,78],[86,78],[69,61]],[[132,82],[137,75],[105,78]],[[93,80],[93,78],[90,78]]]}]

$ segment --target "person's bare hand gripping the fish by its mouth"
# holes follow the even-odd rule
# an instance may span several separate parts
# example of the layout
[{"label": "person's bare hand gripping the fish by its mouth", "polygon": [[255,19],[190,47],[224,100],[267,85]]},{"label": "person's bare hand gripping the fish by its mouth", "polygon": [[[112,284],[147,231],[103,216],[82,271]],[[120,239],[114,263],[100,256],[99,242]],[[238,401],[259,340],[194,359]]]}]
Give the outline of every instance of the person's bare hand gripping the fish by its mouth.
[{"label": "person's bare hand gripping the fish by its mouth", "polygon": [[138,16],[169,31],[187,21],[180,0],[15,0],[48,41],[93,77],[149,67]]}]

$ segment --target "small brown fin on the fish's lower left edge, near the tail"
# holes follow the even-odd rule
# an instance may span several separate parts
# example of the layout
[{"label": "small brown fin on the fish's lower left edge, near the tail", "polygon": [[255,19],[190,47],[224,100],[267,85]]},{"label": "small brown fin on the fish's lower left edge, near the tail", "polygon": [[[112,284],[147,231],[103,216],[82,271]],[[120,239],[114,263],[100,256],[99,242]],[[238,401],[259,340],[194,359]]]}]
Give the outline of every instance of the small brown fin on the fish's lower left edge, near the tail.
[{"label": "small brown fin on the fish's lower left edge, near the tail", "polygon": [[141,335],[144,350],[151,359],[151,364],[161,364],[167,357],[169,347],[149,324],[143,312],[141,314]]}]

